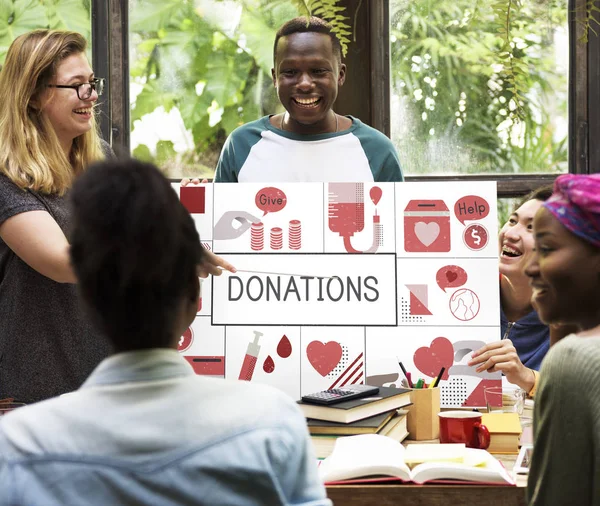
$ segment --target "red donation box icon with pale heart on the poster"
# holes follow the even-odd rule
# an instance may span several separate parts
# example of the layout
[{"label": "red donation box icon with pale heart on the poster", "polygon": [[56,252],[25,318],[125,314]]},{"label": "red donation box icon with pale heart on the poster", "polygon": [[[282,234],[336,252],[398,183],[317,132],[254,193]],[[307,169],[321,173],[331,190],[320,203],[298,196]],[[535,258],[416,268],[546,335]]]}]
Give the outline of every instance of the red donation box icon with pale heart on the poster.
[{"label": "red donation box icon with pale heart on the poster", "polygon": [[450,251],[450,212],[443,200],[411,200],[404,209],[404,250]]}]

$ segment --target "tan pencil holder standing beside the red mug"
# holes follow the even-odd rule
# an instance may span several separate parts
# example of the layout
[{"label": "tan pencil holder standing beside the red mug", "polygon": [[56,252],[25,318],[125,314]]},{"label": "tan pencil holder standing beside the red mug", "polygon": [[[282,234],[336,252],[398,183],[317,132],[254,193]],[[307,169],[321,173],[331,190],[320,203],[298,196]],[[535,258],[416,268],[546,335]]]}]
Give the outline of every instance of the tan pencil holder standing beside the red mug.
[{"label": "tan pencil holder standing beside the red mug", "polygon": [[406,420],[408,439],[423,441],[440,436],[440,388],[414,388],[410,392],[412,405]]}]

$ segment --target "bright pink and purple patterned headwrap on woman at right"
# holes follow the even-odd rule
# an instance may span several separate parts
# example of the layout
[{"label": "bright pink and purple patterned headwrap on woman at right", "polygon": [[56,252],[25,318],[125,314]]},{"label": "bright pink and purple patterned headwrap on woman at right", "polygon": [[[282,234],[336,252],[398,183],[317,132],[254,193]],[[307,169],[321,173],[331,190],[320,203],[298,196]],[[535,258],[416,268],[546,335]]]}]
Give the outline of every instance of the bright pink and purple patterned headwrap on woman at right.
[{"label": "bright pink and purple patterned headwrap on woman at right", "polygon": [[568,230],[600,248],[600,174],[565,174],[543,206]]}]

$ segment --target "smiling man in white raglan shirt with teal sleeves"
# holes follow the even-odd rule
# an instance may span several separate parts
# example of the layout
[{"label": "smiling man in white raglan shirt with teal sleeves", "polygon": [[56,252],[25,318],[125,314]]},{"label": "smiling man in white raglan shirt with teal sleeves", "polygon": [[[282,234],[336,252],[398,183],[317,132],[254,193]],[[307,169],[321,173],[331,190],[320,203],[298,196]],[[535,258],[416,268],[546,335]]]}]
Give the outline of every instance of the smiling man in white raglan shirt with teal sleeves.
[{"label": "smiling man in white raglan shirt with teal sleeves", "polygon": [[234,130],[215,182],[403,180],[391,141],[333,110],[346,65],[328,23],[288,21],[275,36],[273,59],[273,85],[285,112]]}]

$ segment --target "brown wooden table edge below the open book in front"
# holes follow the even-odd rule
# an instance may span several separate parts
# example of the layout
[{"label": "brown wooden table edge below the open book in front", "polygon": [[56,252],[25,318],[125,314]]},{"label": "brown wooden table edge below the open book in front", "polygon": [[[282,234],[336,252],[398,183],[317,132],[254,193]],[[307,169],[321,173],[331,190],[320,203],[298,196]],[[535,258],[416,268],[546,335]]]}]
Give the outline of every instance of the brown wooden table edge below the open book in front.
[{"label": "brown wooden table edge below the open book in front", "polygon": [[[516,455],[494,455],[512,473]],[[335,506],[526,506],[527,478],[516,487],[494,485],[331,485]]]}]

